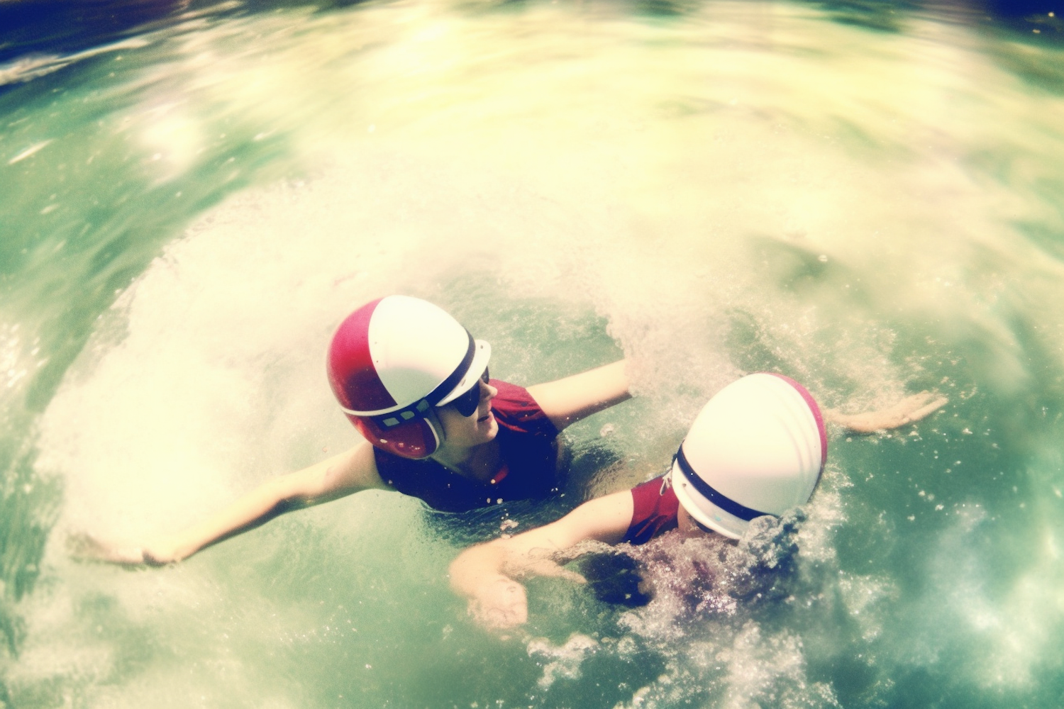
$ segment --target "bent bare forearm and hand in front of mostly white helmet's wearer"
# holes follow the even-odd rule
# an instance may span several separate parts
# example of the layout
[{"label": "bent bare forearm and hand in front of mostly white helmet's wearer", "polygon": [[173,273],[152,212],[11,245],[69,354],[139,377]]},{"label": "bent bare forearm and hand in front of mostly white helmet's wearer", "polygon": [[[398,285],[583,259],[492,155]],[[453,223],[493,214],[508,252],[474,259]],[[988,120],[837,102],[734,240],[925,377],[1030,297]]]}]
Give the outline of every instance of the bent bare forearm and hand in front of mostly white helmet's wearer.
[{"label": "bent bare forearm and hand in front of mostly white helmet's wearer", "polygon": [[628,490],[585,502],[546,526],[465,550],[451,562],[451,588],[469,600],[469,614],[481,625],[520,625],[528,620],[528,597],[516,579],[538,575],[583,583],[580,574],[552,557],[582,541],[616,544],[631,521],[632,493]]}]

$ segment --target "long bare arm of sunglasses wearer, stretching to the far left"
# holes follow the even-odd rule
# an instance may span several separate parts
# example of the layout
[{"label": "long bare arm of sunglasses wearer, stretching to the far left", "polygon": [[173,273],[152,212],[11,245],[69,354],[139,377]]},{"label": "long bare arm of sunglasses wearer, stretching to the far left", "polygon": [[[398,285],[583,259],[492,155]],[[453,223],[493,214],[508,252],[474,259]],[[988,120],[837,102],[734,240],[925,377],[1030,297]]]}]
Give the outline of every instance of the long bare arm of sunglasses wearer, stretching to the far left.
[{"label": "long bare arm of sunglasses wearer, stretching to the far left", "polygon": [[310,468],[275,477],[202,522],[144,545],[112,544],[87,535],[71,536],[73,556],[128,565],[163,565],[269,522],[292,509],[317,505],[370,488],[387,489],[377,472],[373,449],[360,443]]}]

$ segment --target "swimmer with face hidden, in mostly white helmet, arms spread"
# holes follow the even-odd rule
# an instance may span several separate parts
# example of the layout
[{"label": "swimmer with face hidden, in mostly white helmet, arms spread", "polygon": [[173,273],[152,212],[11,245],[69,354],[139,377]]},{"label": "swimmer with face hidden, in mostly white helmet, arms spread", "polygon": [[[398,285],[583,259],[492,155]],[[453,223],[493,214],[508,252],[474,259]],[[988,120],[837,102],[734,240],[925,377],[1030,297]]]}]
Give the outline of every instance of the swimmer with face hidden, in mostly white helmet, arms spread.
[{"label": "swimmer with face hidden, in mostly white helmet, arms spread", "polygon": [[918,421],[946,403],[924,392],[881,411],[828,410],[825,417],[798,383],[778,374],[745,376],[702,408],[665,475],[585,502],[546,526],[467,548],[451,563],[451,587],[468,598],[478,623],[515,627],[528,620],[518,579],[584,583],[562,565],[577,544],[645,544],[675,529],[739,539],[751,520],[779,517],[810,500],[828,455],[826,419],[870,433]]}]

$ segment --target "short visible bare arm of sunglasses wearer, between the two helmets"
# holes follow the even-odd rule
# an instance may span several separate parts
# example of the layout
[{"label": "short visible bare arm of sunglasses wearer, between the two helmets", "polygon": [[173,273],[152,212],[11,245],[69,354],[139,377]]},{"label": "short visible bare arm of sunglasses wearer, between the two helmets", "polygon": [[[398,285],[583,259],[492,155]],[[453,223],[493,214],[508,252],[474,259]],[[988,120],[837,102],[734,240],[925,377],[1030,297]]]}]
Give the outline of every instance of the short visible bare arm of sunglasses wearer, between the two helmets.
[{"label": "short visible bare arm of sunglasses wearer, between the two helmets", "polygon": [[559,431],[631,398],[627,359],[529,387],[529,393]]}]

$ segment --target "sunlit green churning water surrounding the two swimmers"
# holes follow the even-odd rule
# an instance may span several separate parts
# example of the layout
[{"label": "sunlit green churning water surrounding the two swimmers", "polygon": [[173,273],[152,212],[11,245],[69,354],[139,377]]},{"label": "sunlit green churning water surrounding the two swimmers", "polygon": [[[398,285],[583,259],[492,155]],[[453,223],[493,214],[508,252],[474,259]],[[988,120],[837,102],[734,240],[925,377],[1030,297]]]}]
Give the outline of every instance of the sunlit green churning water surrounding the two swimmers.
[{"label": "sunlit green churning water surrounding the two swimmers", "polygon": [[[0,67],[0,704],[1064,704],[1059,17],[256,10]],[[516,383],[632,358],[565,499],[455,522],[373,492],[173,568],[68,557],[350,445],[323,351],[387,292]],[[661,472],[764,369],[828,406],[950,404],[835,432],[804,521],[750,547],[795,544],[786,573],[666,539],[646,608],[537,580],[526,631],[471,625],[462,544]]]}]

